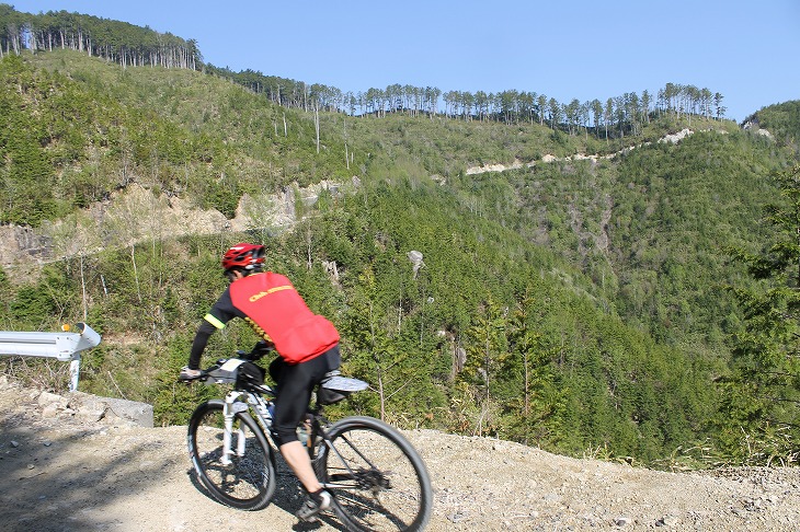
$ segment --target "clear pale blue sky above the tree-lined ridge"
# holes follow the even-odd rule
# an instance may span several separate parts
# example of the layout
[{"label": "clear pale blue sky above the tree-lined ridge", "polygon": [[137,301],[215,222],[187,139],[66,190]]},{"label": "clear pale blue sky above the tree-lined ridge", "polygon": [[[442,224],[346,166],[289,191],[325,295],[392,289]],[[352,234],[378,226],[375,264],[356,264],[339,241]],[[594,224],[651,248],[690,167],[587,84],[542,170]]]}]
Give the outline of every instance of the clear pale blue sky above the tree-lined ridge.
[{"label": "clear pale blue sky above the tree-lined ridge", "polygon": [[800,0],[0,0],[197,41],[235,71],[342,91],[400,83],[518,90],[561,103],[666,83],[724,96],[728,118],[800,100]]}]

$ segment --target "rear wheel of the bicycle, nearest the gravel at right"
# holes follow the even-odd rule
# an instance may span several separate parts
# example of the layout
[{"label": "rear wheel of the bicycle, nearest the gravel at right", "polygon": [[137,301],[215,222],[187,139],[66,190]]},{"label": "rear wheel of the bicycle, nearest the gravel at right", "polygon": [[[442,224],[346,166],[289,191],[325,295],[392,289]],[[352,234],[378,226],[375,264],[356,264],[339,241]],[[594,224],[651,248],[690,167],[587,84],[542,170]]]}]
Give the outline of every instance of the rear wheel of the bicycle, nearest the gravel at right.
[{"label": "rear wheel of the bicycle, nearest the gravel at right", "polygon": [[[393,427],[347,417],[327,431],[316,472],[350,531],[420,531],[431,518],[433,489],[416,450]],[[346,466],[344,465],[346,463]]]}]

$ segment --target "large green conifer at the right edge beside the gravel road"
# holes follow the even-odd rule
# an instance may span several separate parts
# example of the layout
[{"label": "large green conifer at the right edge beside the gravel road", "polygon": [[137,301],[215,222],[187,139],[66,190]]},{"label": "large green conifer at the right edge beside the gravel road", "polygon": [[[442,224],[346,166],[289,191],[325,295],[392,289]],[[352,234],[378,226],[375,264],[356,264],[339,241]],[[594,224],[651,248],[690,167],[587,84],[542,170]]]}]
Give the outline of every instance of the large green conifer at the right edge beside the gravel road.
[{"label": "large green conifer at the right edge beside the gravel road", "polygon": [[766,208],[775,238],[761,252],[731,250],[757,281],[730,287],[744,312],[733,373],[722,382],[721,447],[750,463],[800,455],[800,165],[776,176],[781,201]]}]

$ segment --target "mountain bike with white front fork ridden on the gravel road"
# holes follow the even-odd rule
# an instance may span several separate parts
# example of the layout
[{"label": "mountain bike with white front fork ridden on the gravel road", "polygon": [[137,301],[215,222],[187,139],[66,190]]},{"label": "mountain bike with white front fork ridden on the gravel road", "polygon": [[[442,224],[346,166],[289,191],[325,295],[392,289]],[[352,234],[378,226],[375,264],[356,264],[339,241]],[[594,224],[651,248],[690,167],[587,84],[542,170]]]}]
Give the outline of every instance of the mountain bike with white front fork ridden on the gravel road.
[{"label": "mountain bike with white front fork ridden on the gravel road", "polygon": [[[271,412],[275,391],[253,363],[270,349],[217,360],[201,372],[206,384],[233,384],[225,400],[194,410],[187,443],[197,476],[219,502],[241,510],[265,508],[275,491],[276,453]],[[323,407],[367,383],[330,372],[316,386],[298,436],[320,483],[332,495],[331,509],[350,531],[419,531],[431,517],[433,490],[425,464],[390,425],[366,416],[330,423]]]}]

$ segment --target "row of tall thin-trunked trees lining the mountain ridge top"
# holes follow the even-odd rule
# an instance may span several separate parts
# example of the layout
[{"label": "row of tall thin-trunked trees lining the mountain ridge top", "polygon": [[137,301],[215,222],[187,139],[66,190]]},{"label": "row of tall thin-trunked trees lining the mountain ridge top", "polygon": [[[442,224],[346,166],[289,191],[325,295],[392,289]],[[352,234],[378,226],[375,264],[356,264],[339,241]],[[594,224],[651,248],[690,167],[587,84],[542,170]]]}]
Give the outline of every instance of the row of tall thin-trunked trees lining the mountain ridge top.
[{"label": "row of tall thin-trunked trees lining the mountain ridge top", "polygon": [[[23,50],[71,49],[105,58],[122,67],[161,66],[203,70],[249,88],[265,95],[271,102],[304,111],[325,109],[350,115],[386,116],[403,113],[410,116],[444,113],[462,119],[498,120],[505,124],[538,122],[551,128],[565,128],[570,134],[595,136],[637,135],[651,114],[702,116],[721,119],[725,114],[724,96],[719,92],[690,84],[667,83],[651,95],[647,90],[609,97],[580,102],[573,99],[561,103],[533,91],[507,90],[498,93],[449,90],[432,86],[412,86],[400,83],[385,89],[343,92],[320,83],[307,84],[262,72],[233,72],[203,61],[194,39],[184,41],[169,33],[161,34],[148,27],[67,11],[41,14],[21,13],[11,5],[0,4],[0,57]],[[441,105],[444,104],[444,109]]]}]

